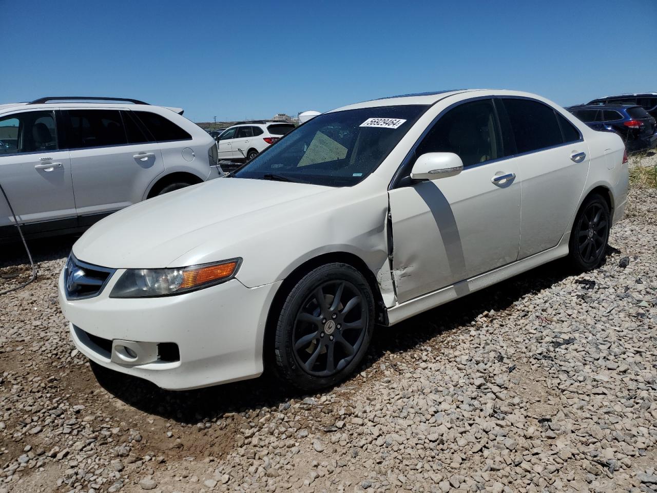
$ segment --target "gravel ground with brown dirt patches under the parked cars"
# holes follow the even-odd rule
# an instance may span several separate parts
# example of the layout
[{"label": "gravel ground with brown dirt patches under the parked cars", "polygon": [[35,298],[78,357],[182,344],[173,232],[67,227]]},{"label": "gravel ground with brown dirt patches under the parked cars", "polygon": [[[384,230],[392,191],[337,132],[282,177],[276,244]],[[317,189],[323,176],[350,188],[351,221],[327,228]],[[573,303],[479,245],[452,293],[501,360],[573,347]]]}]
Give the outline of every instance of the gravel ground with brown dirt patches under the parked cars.
[{"label": "gravel ground with brown dirt patches under the parked cars", "polygon": [[[314,396],[89,365],[57,305],[73,240],[35,244],[37,281],[0,298],[0,493],[657,491],[656,213],[633,191],[598,270],[553,262],[378,329]],[[28,271],[1,248],[0,291]]]}]

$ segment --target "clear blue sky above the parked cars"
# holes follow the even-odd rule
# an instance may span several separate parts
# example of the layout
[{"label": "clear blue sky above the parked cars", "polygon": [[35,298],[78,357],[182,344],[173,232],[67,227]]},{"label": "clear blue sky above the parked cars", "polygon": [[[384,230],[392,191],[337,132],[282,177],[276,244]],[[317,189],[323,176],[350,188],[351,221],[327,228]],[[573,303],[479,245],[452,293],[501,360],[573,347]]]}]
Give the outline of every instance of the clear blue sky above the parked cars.
[{"label": "clear blue sky above the parked cars", "polygon": [[656,0],[0,0],[0,102],[133,97],[194,121],[465,87],[657,91]]}]

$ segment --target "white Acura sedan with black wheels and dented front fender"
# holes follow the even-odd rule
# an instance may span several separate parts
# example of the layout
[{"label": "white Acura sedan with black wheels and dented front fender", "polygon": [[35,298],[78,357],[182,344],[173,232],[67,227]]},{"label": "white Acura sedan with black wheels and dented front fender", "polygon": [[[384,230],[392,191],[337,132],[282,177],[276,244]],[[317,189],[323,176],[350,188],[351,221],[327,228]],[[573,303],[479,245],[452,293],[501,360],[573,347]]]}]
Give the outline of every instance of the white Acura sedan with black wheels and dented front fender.
[{"label": "white Acura sedan with black wheels and dented front fender", "polygon": [[315,390],[359,367],[375,324],[559,257],[596,268],[627,179],[618,135],[533,94],[376,99],[101,220],[59,300],[83,354],[160,387],[271,368]]}]

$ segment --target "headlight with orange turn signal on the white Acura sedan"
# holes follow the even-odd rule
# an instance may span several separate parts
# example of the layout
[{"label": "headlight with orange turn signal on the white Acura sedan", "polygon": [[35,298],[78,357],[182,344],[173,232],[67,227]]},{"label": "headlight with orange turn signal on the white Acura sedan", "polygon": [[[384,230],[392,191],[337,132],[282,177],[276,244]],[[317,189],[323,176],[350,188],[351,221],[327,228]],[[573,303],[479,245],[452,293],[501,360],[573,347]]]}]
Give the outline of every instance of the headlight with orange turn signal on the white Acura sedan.
[{"label": "headlight with orange turn signal on the white Acura sedan", "polygon": [[189,293],[233,279],[241,258],[177,269],[128,269],[116,281],[110,298],[146,298]]}]

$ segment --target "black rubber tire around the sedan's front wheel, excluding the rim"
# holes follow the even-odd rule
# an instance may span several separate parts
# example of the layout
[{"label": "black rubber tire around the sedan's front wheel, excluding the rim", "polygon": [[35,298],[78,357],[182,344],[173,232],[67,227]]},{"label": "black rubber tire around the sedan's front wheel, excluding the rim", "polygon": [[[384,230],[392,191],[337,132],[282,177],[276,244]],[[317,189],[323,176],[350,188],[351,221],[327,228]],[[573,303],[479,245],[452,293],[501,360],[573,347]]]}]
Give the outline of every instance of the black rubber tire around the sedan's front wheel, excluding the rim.
[{"label": "black rubber tire around the sedan's front wheel, excluding the rim", "polygon": [[[344,280],[352,283],[359,291],[367,304],[368,323],[365,328],[365,337],[351,362],[335,375],[330,377],[317,377],[306,373],[296,362],[294,356],[292,331],[296,314],[307,296],[326,281]],[[288,294],[283,308],[277,319],[274,342],[275,367],[288,383],[302,390],[319,390],[330,387],[346,379],[361,364],[367,353],[367,348],[374,332],[374,297],[372,290],[363,275],[348,264],[334,263],[315,268],[302,277]]]}]

